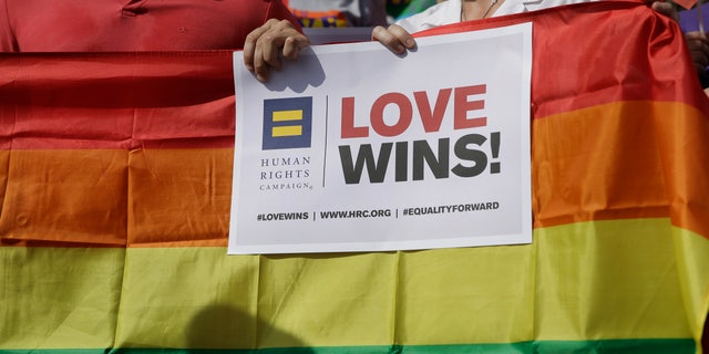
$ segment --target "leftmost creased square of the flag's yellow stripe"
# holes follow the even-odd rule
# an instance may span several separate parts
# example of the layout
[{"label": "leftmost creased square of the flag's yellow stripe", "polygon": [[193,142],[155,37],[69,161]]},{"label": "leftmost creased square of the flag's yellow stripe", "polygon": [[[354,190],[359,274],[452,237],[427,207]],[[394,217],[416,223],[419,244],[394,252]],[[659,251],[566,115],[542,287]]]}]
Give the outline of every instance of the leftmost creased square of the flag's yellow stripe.
[{"label": "leftmost creased square of the flag's yellow stripe", "polygon": [[123,248],[0,247],[3,348],[111,347]]}]

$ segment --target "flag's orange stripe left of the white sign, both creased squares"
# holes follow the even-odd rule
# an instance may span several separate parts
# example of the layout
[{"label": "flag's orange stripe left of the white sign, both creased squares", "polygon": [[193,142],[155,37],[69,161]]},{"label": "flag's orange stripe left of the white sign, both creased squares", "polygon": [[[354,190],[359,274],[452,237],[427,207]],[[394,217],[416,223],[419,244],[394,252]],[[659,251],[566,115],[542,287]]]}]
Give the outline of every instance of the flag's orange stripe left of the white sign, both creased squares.
[{"label": "flag's orange stripe left of the white sign, both creased squares", "polygon": [[2,152],[0,244],[226,246],[233,156],[229,148]]}]

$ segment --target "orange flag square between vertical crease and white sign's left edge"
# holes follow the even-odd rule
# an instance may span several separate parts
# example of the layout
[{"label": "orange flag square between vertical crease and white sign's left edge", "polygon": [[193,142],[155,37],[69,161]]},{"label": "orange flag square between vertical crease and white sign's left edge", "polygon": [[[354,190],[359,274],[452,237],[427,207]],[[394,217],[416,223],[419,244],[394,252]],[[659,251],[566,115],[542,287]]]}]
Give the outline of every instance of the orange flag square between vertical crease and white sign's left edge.
[{"label": "orange flag square between vertical crease and white sign's left edge", "polygon": [[132,153],[129,246],[226,246],[233,160],[230,148]]}]

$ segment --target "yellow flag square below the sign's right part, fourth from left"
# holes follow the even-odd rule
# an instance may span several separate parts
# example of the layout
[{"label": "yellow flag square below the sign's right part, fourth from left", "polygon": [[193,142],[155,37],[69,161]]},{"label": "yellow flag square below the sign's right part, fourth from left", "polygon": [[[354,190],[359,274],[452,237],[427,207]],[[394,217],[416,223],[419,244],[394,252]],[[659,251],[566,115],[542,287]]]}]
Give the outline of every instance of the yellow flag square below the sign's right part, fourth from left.
[{"label": "yellow flag square below the sign's right part, fourth from left", "polygon": [[403,252],[399,274],[401,343],[508,343],[533,336],[532,244]]}]

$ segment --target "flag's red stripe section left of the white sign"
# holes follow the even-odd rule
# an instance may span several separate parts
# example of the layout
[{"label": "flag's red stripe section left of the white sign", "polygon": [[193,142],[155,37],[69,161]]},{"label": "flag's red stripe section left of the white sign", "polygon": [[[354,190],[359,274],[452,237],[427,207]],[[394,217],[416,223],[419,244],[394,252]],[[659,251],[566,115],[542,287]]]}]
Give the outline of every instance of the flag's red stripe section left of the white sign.
[{"label": "flag's red stripe section left of the white sign", "polygon": [[232,52],[0,54],[0,148],[233,147]]}]

